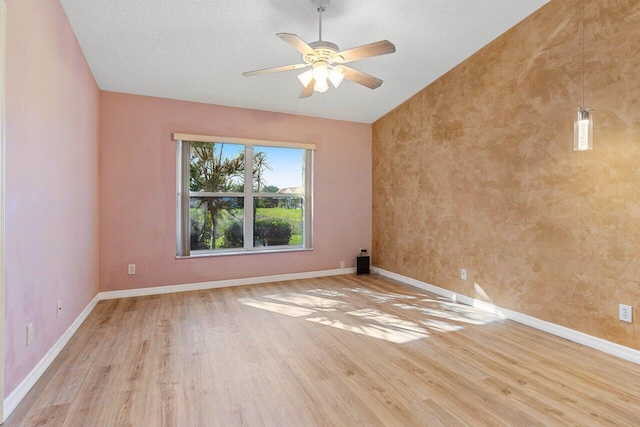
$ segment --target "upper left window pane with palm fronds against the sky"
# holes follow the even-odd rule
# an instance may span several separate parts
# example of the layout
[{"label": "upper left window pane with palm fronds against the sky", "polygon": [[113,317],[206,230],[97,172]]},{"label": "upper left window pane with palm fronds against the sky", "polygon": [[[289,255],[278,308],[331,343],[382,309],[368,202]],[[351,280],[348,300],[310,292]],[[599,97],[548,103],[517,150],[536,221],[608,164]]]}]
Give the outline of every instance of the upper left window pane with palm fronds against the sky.
[{"label": "upper left window pane with palm fronds against the sky", "polygon": [[244,191],[243,145],[191,142],[190,154],[191,191]]}]

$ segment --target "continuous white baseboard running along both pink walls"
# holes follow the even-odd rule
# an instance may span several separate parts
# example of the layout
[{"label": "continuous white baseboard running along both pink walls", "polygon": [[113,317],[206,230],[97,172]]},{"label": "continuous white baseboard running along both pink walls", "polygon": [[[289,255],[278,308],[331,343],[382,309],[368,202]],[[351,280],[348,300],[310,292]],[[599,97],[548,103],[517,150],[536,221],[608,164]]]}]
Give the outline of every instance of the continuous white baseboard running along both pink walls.
[{"label": "continuous white baseboard running along both pink walls", "polygon": [[[226,288],[229,286],[245,286],[255,285],[259,283],[271,283],[282,282],[287,280],[297,279],[311,279],[314,277],[326,277],[326,276],[339,276],[342,274],[351,274],[355,272],[355,268],[340,268],[335,270],[321,270],[321,271],[309,271],[304,273],[291,273],[291,274],[278,274],[274,276],[262,276],[252,277],[247,279],[231,279],[220,280],[214,282],[201,282],[190,283],[185,285],[172,285],[172,286],[157,286],[153,288],[140,288],[129,289],[125,291],[111,291],[100,292],[93,300],[82,310],[82,313],[76,318],[76,320],[69,326],[69,328],[62,334],[60,339],[51,347],[51,349],[44,355],[40,362],[29,372],[24,380],[11,392],[9,396],[4,400],[4,420],[6,420],[18,404],[24,399],[31,387],[40,379],[44,371],[47,370],[49,365],[53,362],[56,356],[62,351],[65,345],[69,342],[73,334],[76,333],[82,322],[89,316],[93,308],[102,300],[115,299],[115,298],[129,298],[144,295],[159,295],[168,294],[173,292],[187,292],[196,291],[202,289],[214,289],[214,288]],[[4,422],[3,420],[3,422]]]}]

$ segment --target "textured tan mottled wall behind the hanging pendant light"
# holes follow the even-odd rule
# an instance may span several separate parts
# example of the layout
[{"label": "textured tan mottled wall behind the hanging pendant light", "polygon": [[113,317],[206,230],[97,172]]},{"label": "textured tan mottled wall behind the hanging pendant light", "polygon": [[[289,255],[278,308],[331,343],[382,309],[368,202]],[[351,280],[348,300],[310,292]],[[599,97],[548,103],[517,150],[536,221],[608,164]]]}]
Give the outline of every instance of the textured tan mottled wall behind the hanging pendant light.
[{"label": "textured tan mottled wall behind the hanging pendant light", "polygon": [[640,349],[640,1],[587,0],[590,152],[580,18],[552,0],[374,123],[373,263]]}]

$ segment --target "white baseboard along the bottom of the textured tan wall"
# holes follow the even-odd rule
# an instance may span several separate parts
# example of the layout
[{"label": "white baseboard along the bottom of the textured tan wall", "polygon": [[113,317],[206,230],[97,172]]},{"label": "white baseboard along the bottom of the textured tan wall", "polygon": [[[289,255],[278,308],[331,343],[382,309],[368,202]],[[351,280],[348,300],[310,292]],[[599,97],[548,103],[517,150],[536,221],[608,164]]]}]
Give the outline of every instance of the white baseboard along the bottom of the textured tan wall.
[{"label": "white baseboard along the bottom of the textured tan wall", "polygon": [[381,276],[388,277],[389,279],[397,280],[404,284],[419,288],[436,295],[440,295],[445,298],[449,298],[453,301],[457,301],[462,304],[471,305],[477,307],[480,310],[491,312],[501,315],[514,322],[522,323],[523,325],[530,326],[535,329],[547,332],[549,334],[573,341],[578,344],[591,347],[595,350],[599,350],[603,353],[611,354],[612,356],[619,357],[629,362],[637,363],[640,365],[640,351],[625,347],[620,344],[613,343],[611,341],[603,340],[602,338],[594,337],[583,332],[576,331],[564,326],[557,325],[555,323],[540,320],[527,314],[522,314],[517,311],[509,310],[499,307],[497,305],[487,303],[485,301],[479,301],[466,295],[458,294],[447,289],[440,288],[438,286],[431,285],[429,283],[421,282],[411,277],[402,276],[391,271],[383,270],[378,267],[371,269],[373,272],[380,274]]}]

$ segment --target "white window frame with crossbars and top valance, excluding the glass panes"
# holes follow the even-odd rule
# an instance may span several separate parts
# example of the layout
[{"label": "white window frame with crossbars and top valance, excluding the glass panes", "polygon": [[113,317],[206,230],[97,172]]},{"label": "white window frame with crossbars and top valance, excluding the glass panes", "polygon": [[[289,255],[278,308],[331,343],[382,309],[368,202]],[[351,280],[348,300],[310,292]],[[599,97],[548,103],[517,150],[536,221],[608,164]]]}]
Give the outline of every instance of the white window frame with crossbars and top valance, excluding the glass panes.
[{"label": "white window frame with crossbars and top valance, excluding the glass panes", "polygon": [[[186,133],[174,133],[173,140],[176,141],[176,257],[193,258],[199,256],[219,256],[219,255],[240,255],[255,253],[273,253],[306,251],[313,249],[313,156],[316,149],[315,144],[267,141],[260,139],[230,138],[210,135],[193,135]],[[245,167],[245,189],[240,193],[208,193],[191,192],[190,181],[190,160],[191,142],[211,142],[214,144],[234,144],[245,147],[245,159],[253,158],[253,147],[276,147],[276,148],[297,148],[304,151],[304,203],[303,203],[303,232],[302,245],[290,246],[266,246],[254,247],[253,238],[253,201],[256,197],[282,197],[278,193],[258,193],[253,190],[253,170]],[[249,183],[247,185],[247,183]],[[244,198],[244,247],[224,248],[210,250],[191,250],[190,223],[189,223],[189,200],[191,197],[243,197]]]}]

